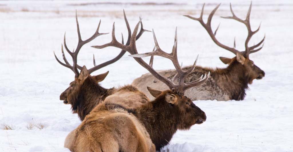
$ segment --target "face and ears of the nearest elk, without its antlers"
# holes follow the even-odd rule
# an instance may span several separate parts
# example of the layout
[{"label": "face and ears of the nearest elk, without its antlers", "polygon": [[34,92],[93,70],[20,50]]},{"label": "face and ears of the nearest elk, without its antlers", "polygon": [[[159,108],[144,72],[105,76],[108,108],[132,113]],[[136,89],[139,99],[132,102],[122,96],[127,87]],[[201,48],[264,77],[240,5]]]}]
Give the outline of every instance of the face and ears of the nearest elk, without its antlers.
[{"label": "face and ears of the nearest elk, without its antlers", "polygon": [[186,130],[194,124],[202,124],[207,116],[199,107],[197,107],[189,98],[184,95],[178,95],[172,91],[159,91],[148,87],[149,92],[154,97],[165,96],[165,102],[171,105],[171,112],[174,112],[179,120],[178,129]]}]

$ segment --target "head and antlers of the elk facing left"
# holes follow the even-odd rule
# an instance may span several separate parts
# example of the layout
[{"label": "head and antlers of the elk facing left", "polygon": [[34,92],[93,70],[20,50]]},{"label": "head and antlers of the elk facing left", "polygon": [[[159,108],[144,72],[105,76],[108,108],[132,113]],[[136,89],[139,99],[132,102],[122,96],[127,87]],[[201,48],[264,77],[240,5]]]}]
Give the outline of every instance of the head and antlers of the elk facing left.
[{"label": "head and antlers of the elk facing left", "polygon": [[[127,20],[126,16],[125,16],[125,12],[124,12],[124,17],[125,17],[125,20]],[[81,98],[81,96],[85,96],[85,95],[93,96],[92,94],[94,94],[94,93],[97,94],[97,93],[105,92],[105,89],[102,88],[101,86],[99,86],[98,83],[105,79],[105,77],[108,75],[109,71],[107,71],[104,74],[99,74],[99,75],[96,75],[96,76],[91,76],[90,74],[92,72],[98,70],[98,69],[101,69],[101,68],[103,68],[105,66],[108,66],[108,65],[116,62],[126,52],[125,50],[122,49],[121,52],[115,58],[113,58],[113,59],[111,59],[111,60],[109,60],[107,62],[101,63],[99,65],[96,65],[95,56],[93,56],[94,67],[91,68],[91,69],[86,69],[86,66],[81,67],[81,66],[79,66],[77,64],[77,55],[78,55],[78,53],[79,53],[79,51],[80,51],[80,49],[81,49],[81,47],[83,45],[85,45],[86,43],[92,41],[93,39],[95,39],[96,37],[98,37],[100,35],[108,34],[108,33],[99,33],[100,23],[101,23],[101,21],[98,24],[98,28],[97,28],[96,32],[90,38],[88,38],[87,40],[82,40],[80,31],[79,31],[79,23],[78,23],[78,20],[77,20],[77,13],[76,13],[78,44],[77,44],[75,52],[74,51],[71,52],[67,48],[66,41],[65,41],[65,34],[64,34],[64,47],[65,47],[66,51],[72,57],[73,66],[71,66],[71,64],[69,64],[69,62],[67,61],[67,59],[66,59],[66,57],[64,55],[63,45],[61,47],[61,51],[62,51],[62,56],[63,56],[63,60],[64,60],[65,63],[61,62],[56,57],[56,55],[54,53],[54,56],[55,56],[57,62],[59,62],[61,65],[65,66],[65,67],[71,69],[75,74],[74,81],[72,81],[69,84],[69,87],[63,93],[61,93],[61,95],[60,95],[60,100],[63,100],[64,104],[71,104],[72,110],[76,110],[76,106],[79,105],[78,102],[79,102],[79,98]],[[141,23],[141,25],[142,25],[142,23]],[[141,28],[141,30],[139,32],[139,35],[137,35],[136,39],[139,39],[139,37],[145,31],[147,31],[147,30],[144,30],[143,28]],[[128,45],[129,42],[130,42],[130,37],[128,37],[126,45]],[[124,44],[123,35],[122,35],[122,44]],[[81,70],[80,73],[79,73],[78,69]],[[83,97],[83,98],[87,98],[87,97]]]}]

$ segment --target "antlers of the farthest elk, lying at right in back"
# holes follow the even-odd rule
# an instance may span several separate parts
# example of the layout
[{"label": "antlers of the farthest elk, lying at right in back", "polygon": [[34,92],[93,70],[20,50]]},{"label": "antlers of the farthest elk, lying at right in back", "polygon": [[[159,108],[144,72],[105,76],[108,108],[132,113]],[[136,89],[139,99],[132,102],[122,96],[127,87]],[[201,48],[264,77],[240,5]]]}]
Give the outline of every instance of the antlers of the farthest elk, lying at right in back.
[{"label": "antlers of the farthest elk, lying at right in back", "polygon": [[235,49],[235,47],[236,47],[235,39],[234,39],[234,47],[233,47],[233,48],[232,48],[232,47],[228,47],[228,46],[226,46],[226,45],[223,45],[222,43],[220,43],[220,42],[216,39],[215,36],[216,36],[216,34],[217,34],[217,30],[219,29],[220,24],[218,25],[217,29],[216,29],[215,32],[213,33],[212,28],[211,28],[211,21],[212,21],[212,17],[214,16],[214,13],[217,11],[217,9],[219,8],[220,5],[221,5],[221,4],[217,5],[217,7],[214,8],[214,10],[209,14],[209,17],[208,17],[208,19],[207,19],[207,23],[204,23],[204,21],[202,20],[202,15],[203,15],[203,10],[204,10],[205,4],[203,4],[203,6],[202,6],[202,11],[201,11],[201,13],[200,13],[200,17],[199,17],[199,18],[195,18],[195,17],[189,16],[189,15],[184,15],[184,16],[186,16],[186,17],[188,17],[188,18],[191,18],[191,19],[193,19],[193,20],[199,21],[200,24],[201,24],[201,25],[207,30],[207,33],[209,33],[209,36],[212,38],[212,40],[213,40],[213,41],[214,41],[219,47],[222,47],[223,49],[226,49],[226,50],[228,50],[228,51],[230,51],[230,52],[232,52],[232,53],[234,53],[234,54],[241,53],[241,54],[243,54],[244,56],[249,57],[249,54],[254,53],[254,52],[257,52],[257,51],[259,51],[260,49],[262,49],[262,48],[263,48],[263,45],[262,45],[260,48],[258,48],[258,49],[255,49],[255,48],[258,47],[258,46],[260,46],[260,45],[264,42],[264,40],[265,40],[265,36],[263,37],[263,39],[262,39],[258,44],[253,45],[253,46],[251,46],[251,47],[248,47],[248,42],[249,42],[249,40],[250,40],[251,37],[252,37],[255,33],[257,33],[258,30],[260,29],[260,25],[259,25],[259,27],[258,27],[257,30],[255,30],[255,31],[252,31],[252,30],[251,30],[251,26],[250,26],[250,12],[251,12],[252,2],[251,2],[251,4],[250,4],[250,6],[249,6],[249,9],[248,9],[248,12],[247,12],[247,15],[246,15],[246,19],[245,19],[245,20],[242,20],[242,19],[238,18],[238,17],[234,14],[234,12],[233,12],[233,10],[232,10],[231,3],[230,3],[230,10],[231,10],[232,16],[222,17],[222,18],[234,19],[234,20],[236,20],[236,21],[239,21],[239,22],[243,23],[243,24],[246,26],[246,28],[247,28],[247,30],[248,30],[248,35],[247,35],[247,38],[246,38],[246,40],[245,40],[245,51],[240,52],[240,51],[238,51],[238,50]]}]

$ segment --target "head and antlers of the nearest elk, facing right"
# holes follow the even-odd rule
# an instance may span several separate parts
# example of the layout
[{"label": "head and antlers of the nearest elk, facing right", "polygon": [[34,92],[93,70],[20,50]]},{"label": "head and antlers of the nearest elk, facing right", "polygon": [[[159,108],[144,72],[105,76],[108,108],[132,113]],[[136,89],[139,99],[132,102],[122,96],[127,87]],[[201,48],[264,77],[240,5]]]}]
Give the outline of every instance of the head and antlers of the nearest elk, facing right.
[{"label": "head and antlers of the nearest elk, facing right", "polygon": [[[141,21],[139,21],[140,23]],[[100,45],[100,46],[92,46],[97,49],[102,49],[105,47],[118,47],[120,49],[124,49],[127,52],[129,52],[131,57],[134,57],[134,59],[142,65],[144,68],[146,68],[152,75],[154,75],[157,79],[165,83],[170,90],[165,90],[165,91],[160,91],[160,90],[155,90],[152,88],[148,88],[149,92],[156,98],[154,101],[152,101],[153,107],[154,108],[163,108],[165,107],[171,112],[178,112],[178,115],[174,116],[174,120],[176,123],[180,123],[180,126],[178,126],[177,129],[189,129],[193,124],[201,124],[206,120],[206,115],[205,112],[200,110],[199,107],[197,107],[194,103],[191,102],[191,100],[187,97],[184,96],[185,90],[199,86],[207,81],[209,78],[209,73],[205,74],[205,76],[201,76],[199,79],[189,82],[189,83],[184,83],[184,79],[186,76],[188,76],[190,73],[193,72],[196,66],[196,62],[198,59],[198,56],[193,64],[193,66],[188,69],[187,71],[183,71],[182,68],[179,65],[178,58],[177,58],[177,28],[175,31],[175,42],[174,46],[172,49],[171,53],[166,53],[164,52],[160,47],[159,44],[156,40],[156,35],[153,30],[153,36],[154,36],[154,42],[155,42],[155,47],[153,52],[148,52],[148,53],[143,53],[143,54],[138,54],[137,53],[137,48],[136,48],[136,42],[135,42],[135,35],[138,30],[139,23],[137,23],[134,32],[132,33],[132,36],[130,38],[130,45],[126,46],[121,43],[119,43],[115,39],[115,26],[113,25],[113,30],[112,30],[112,41],[110,43]],[[129,35],[131,35],[130,32],[130,27],[127,26],[127,29],[129,31]],[[154,55],[165,57],[167,59],[170,59],[175,66],[177,70],[177,74],[171,79],[168,80],[167,78],[161,76],[159,73],[157,73],[152,65],[153,65],[153,59]],[[142,57],[148,57],[151,56],[149,64],[144,62]],[[178,84],[174,83],[174,80],[178,79]],[[159,105],[158,105],[159,104]],[[171,105],[171,107],[170,107]],[[170,108],[172,110],[170,110]],[[163,110],[165,111],[165,110]],[[163,112],[162,112],[163,113]],[[180,120],[179,120],[180,119]],[[170,120],[171,121],[171,120]],[[178,122],[180,121],[180,122]]]}]

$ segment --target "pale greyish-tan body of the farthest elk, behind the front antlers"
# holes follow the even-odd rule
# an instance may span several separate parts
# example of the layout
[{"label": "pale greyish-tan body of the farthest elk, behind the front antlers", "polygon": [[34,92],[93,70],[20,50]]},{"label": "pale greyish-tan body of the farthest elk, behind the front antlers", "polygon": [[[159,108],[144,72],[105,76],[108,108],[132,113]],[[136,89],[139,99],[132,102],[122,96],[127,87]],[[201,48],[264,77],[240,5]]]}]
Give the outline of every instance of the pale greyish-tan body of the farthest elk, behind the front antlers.
[{"label": "pale greyish-tan body of the farthest elk, behind the front antlers", "polygon": [[[184,67],[183,70],[190,68]],[[185,91],[184,95],[186,95],[190,100],[218,100],[218,101],[226,101],[230,100],[229,93],[227,93],[224,89],[221,89],[218,86],[217,82],[214,80],[213,75],[215,74],[212,69],[203,69],[200,66],[197,66],[193,73],[188,75],[185,79],[186,82],[194,81],[202,74],[208,73],[211,71],[211,75],[206,83],[201,86],[193,87]],[[169,80],[175,76],[177,71],[174,70],[161,70],[158,72],[160,75],[168,78]],[[175,80],[175,83],[178,83],[178,80]],[[133,86],[136,86],[140,91],[145,93],[150,100],[153,100],[154,97],[147,90],[147,86],[154,88],[156,90],[167,90],[168,86],[159,81],[150,73],[143,74],[141,77],[134,79],[132,82]]]}]

